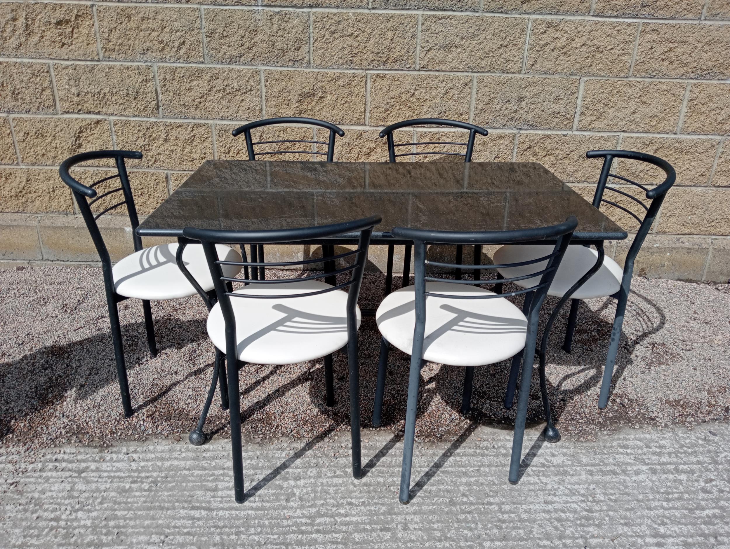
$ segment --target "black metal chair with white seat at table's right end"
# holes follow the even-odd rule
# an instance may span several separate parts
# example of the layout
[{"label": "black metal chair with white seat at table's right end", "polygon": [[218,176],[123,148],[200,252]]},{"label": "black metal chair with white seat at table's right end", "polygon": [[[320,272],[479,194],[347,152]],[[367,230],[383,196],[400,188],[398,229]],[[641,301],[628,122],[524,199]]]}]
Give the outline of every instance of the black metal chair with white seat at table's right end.
[{"label": "black metal chair with white seat at table's right end", "polygon": [[[563,349],[566,352],[570,352],[571,343],[573,338],[573,331],[575,330],[575,324],[577,321],[578,306],[580,305],[581,299],[590,299],[593,297],[615,297],[617,300],[616,314],[613,321],[613,328],[611,331],[611,340],[608,347],[608,354],[606,357],[606,367],[603,372],[603,380],[601,383],[601,392],[599,395],[599,408],[606,408],[608,404],[608,398],[611,389],[611,383],[613,378],[613,367],[616,362],[616,354],[618,353],[618,342],[621,339],[621,326],[623,325],[623,316],[626,313],[626,301],[629,299],[629,291],[631,289],[631,275],[634,272],[634,260],[636,260],[639,249],[649,233],[651,226],[656,219],[661,203],[664,202],[666,192],[675,183],[676,174],[675,169],[659,157],[648,155],[643,152],[623,151],[623,150],[595,150],[588,151],[585,153],[588,158],[603,158],[603,167],[599,181],[596,186],[596,192],[593,195],[593,206],[599,208],[602,203],[609,204],[615,208],[624,211],[631,217],[637,220],[639,223],[639,229],[637,230],[634,241],[631,243],[629,253],[626,254],[626,260],[624,261],[623,269],[621,265],[618,265],[610,257],[604,257],[604,250],[599,247],[596,250],[588,248],[587,246],[570,246],[565,254],[564,262],[561,264],[561,268],[556,273],[553,283],[550,285],[548,295],[561,297],[558,306],[553,310],[553,314],[550,315],[548,325],[543,333],[542,346],[540,347],[540,365],[544,369],[545,367],[545,351],[548,346],[548,337],[550,335],[550,327],[560,311],[560,308],[564,303],[571,299],[570,314],[568,317],[568,325],[566,329],[565,341]],[[664,182],[659,184],[652,189],[649,189],[645,185],[634,182],[624,176],[618,174],[612,174],[611,168],[613,160],[616,158],[624,158],[627,160],[638,160],[657,166],[664,171],[665,179]],[[650,200],[647,205],[642,200],[634,195],[631,195],[625,190],[617,189],[607,185],[608,178],[612,177],[629,184],[638,187],[642,192],[645,193],[645,197]],[[622,206],[614,200],[604,198],[604,192],[610,190],[615,192],[616,195],[621,195],[628,198],[634,203],[637,203],[644,212],[644,217],[639,217],[634,211]],[[620,197],[617,197],[620,198]],[[535,257],[541,257],[541,254],[545,253],[545,246],[503,246],[494,254],[493,260],[497,263],[504,262],[520,262],[526,260],[532,260]],[[500,276],[519,276],[522,273],[522,268],[499,268]],[[529,283],[529,279],[523,279],[516,281],[516,284],[523,286]],[[517,370],[519,368],[519,360],[515,360],[512,364],[512,377],[516,380]],[[507,388],[507,394],[505,396],[505,406],[510,408],[512,405],[512,397],[515,392],[515,386],[510,383]],[[557,437],[546,437],[550,442],[556,442],[559,439]]]}]

